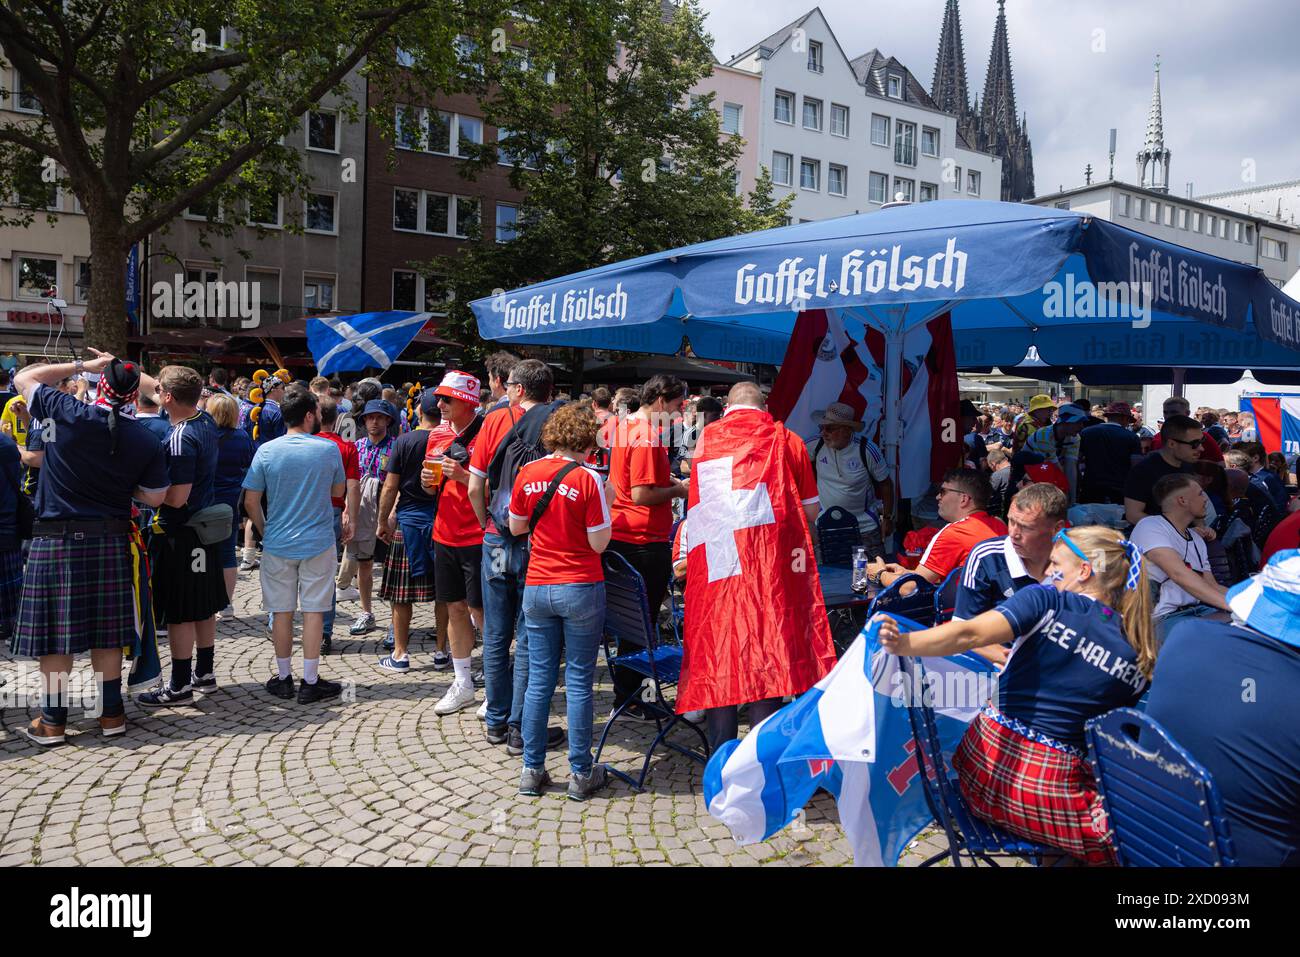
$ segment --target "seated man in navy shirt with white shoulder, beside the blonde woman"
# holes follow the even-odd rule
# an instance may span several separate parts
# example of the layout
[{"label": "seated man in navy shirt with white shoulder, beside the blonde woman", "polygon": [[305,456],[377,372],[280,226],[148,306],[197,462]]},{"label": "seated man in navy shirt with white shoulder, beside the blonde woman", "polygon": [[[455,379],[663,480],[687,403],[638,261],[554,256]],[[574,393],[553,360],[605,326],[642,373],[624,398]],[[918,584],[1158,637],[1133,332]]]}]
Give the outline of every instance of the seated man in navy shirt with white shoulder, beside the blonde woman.
[{"label": "seated man in navy shirt with white shoulder, beside the blonde woman", "polygon": [[[1065,493],[1049,482],[1026,485],[1015,493],[1006,511],[1008,534],[980,542],[966,557],[953,618],[983,615],[1022,588],[1043,581],[1052,559],[1052,537],[1066,527],[1067,510]],[[992,654],[985,657],[998,661]]]}]

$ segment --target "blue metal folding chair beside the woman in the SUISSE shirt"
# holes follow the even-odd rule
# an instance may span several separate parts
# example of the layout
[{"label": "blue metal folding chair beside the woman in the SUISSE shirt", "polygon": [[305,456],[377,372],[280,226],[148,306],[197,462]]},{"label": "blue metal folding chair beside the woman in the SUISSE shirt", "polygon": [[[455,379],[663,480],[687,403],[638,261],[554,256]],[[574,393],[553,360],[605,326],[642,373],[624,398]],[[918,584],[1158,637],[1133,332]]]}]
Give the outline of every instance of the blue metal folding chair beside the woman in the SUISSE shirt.
[{"label": "blue metal folding chair beside the woman in the SUISSE shirt", "polygon": [[[646,598],[646,584],[641,573],[633,568],[623,555],[612,551],[604,553],[604,661],[610,666],[610,676],[614,676],[615,667],[628,668],[644,675],[641,692],[629,697],[614,709],[610,720],[606,722],[601,732],[601,742],[595,748],[594,761],[599,763],[601,752],[604,750],[604,741],[610,736],[610,728],[619,720],[627,709],[636,702],[649,714],[658,728],[658,735],[646,750],[641,774],[637,778],[619,771],[606,765],[610,774],[621,778],[634,789],[641,791],[645,785],[646,775],[650,772],[650,759],[659,745],[685,754],[699,763],[708,761],[708,739],[705,732],[692,722],[676,714],[673,706],[664,698],[664,688],[673,688],[681,676],[681,645],[664,644],[659,638],[659,629],[650,614],[650,602]],[[632,654],[615,655],[614,642],[621,641],[624,645],[636,645],[641,650]],[[699,736],[703,750],[684,748],[680,744],[666,740],[668,732],[681,723]]]}]

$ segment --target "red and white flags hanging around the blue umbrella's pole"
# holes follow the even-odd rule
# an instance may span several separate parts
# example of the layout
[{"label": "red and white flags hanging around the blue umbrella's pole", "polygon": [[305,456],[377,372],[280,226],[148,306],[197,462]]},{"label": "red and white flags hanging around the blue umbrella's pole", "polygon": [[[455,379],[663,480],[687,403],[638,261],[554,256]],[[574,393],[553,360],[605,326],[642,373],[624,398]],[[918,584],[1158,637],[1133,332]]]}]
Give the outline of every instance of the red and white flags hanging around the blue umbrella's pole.
[{"label": "red and white flags hanging around the blue umbrella's pole", "polygon": [[[807,309],[794,321],[781,372],[767,408],[803,438],[818,434],[814,413],[844,402],[866,423],[864,434],[881,442],[885,341],[867,326],[857,342],[844,328],[853,309]],[[904,498],[924,494],[944,472],[959,465],[965,446],[957,391],[953,324],[945,312],[904,337],[898,490]],[[946,424],[946,428],[945,428]]]}]

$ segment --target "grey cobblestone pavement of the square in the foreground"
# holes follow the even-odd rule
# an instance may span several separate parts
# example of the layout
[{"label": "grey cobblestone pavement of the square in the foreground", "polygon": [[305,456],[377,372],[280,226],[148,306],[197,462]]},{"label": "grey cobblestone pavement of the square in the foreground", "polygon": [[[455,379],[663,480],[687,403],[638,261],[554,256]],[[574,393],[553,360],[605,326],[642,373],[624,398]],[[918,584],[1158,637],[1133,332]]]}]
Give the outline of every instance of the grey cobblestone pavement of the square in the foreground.
[{"label": "grey cobblestone pavement of the square in the foreground", "polygon": [[[38,750],[21,732],[36,710],[17,694],[36,688],[34,663],[0,655],[9,677],[0,690],[8,694],[0,711],[0,865],[850,862],[824,793],[805,820],[771,841],[737,846],[705,811],[701,766],[671,752],[656,757],[644,793],[611,779],[585,804],[566,800],[568,763],[563,752],[551,753],[556,787],[520,797],[519,758],[486,742],[473,709],[433,713],[451,674],[432,670],[432,637],[422,640],[432,636],[432,605],[416,609],[412,671],[394,675],[376,667],[386,606],[376,602],[377,631],[350,638],[359,606],[342,603],[334,654],[321,672],[351,683],[351,700],[278,701],[263,689],[274,662],[259,607],[256,573],[242,576],[240,616],[218,625],[220,690],[162,713],[127,703],[129,729],[116,739],[100,737],[95,720],[74,710],[69,744]],[[87,658],[78,666],[88,671]],[[302,676],[300,657],[294,672]],[[611,707],[603,666],[598,674],[597,732]],[[564,713],[563,688],[552,710]],[[642,742],[642,727],[616,728],[603,759],[627,766]],[[933,833],[923,836],[906,862],[939,846]]]}]

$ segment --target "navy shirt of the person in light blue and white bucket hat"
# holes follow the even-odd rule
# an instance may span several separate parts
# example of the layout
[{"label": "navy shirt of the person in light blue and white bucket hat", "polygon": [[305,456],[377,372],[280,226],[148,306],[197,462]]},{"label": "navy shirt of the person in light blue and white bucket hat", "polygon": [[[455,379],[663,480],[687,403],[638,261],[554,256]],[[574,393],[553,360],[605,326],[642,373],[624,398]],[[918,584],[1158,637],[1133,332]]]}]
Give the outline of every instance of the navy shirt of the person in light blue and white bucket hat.
[{"label": "navy shirt of the person in light blue and white bucket hat", "polygon": [[1188,620],[1156,675],[1147,714],[1214,776],[1238,863],[1300,866],[1300,648]]}]

